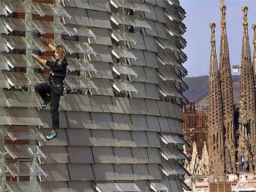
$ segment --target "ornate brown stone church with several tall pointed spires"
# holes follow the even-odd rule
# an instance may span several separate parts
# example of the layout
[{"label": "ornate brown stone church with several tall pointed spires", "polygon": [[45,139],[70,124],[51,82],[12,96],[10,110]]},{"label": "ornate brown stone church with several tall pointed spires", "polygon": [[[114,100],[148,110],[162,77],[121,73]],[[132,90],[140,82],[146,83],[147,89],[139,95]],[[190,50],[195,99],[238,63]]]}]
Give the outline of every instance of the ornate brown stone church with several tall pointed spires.
[{"label": "ornate brown stone church with several tall pointed spires", "polygon": [[[208,100],[208,152],[211,173],[255,172],[255,86],[246,6],[242,7],[242,58],[240,75],[241,101],[239,111],[234,110],[228,38],[226,36],[226,6],[221,5],[220,67],[216,59],[215,31],[211,27],[211,57]],[[255,50],[254,50],[255,52]],[[237,66],[236,66],[237,67]],[[220,86],[213,86],[213,85]],[[220,88],[219,88],[220,87]],[[238,114],[237,114],[238,112]],[[216,155],[218,154],[218,156]],[[244,166],[236,165],[244,164]]]}]

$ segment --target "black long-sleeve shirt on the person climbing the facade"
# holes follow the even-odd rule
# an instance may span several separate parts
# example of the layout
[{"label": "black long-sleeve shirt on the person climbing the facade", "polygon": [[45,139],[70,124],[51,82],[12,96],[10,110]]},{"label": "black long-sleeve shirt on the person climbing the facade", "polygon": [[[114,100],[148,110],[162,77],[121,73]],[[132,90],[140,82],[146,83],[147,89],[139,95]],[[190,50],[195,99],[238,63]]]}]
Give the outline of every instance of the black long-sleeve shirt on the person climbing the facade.
[{"label": "black long-sleeve shirt on the person climbing the facade", "polygon": [[48,81],[54,81],[55,83],[64,83],[69,65],[66,58],[63,59],[61,65],[58,64],[58,60],[46,61],[46,65],[48,65],[51,69]]}]

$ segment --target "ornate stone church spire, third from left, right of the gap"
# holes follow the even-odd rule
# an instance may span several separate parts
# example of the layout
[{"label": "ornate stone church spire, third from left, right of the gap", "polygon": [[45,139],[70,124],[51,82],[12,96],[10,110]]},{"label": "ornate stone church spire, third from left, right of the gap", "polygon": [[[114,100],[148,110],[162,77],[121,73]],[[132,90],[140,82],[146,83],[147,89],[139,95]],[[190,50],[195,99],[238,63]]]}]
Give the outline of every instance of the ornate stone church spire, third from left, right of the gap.
[{"label": "ornate stone church spire, third from left, right of the gap", "polygon": [[[242,39],[242,60],[240,76],[241,106],[239,107],[239,141],[238,156],[244,154],[244,161],[255,158],[255,87],[254,72],[251,61],[246,6],[244,12],[244,35]],[[253,167],[247,167],[252,172]]]}]

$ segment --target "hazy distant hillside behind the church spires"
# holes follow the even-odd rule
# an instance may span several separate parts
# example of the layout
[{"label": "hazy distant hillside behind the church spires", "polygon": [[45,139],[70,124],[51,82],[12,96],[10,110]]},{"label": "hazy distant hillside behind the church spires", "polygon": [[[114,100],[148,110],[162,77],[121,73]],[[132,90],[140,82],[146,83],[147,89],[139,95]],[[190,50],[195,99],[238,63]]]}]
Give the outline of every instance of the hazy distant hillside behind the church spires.
[{"label": "hazy distant hillside behind the church spires", "polygon": [[[189,90],[184,92],[184,96],[186,96],[189,101],[198,102],[199,106],[207,106],[208,78],[208,75],[184,78],[185,83],[189,86]],[[239,75],[233,75],[232,81],[234,102],[236,104],[239,102]]]}]

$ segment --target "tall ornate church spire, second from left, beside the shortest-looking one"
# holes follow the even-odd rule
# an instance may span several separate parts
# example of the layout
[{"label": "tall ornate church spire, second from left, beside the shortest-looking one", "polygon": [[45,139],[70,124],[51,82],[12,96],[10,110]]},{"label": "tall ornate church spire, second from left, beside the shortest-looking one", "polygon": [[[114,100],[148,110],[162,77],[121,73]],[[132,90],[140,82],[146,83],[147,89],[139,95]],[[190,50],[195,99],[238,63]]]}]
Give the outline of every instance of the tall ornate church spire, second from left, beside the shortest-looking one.
[{"label": "tall ornate church spire, second from left, beside the shortest-looking one", "polygon": [[221,5],[220,82],[223,104],[224,152],[226,173],[235,170],[234,160],[234,103],[231,69],[229,62],[228,38],[226,34],[226,6]]}]

